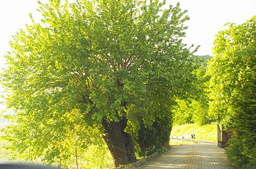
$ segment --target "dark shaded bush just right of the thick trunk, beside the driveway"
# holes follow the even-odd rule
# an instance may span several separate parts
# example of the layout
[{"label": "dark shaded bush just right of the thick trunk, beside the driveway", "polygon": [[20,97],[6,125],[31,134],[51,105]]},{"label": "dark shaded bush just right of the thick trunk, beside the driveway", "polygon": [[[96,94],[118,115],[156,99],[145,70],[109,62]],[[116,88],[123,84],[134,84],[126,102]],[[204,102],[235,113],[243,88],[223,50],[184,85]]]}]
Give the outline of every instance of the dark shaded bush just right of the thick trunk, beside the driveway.
[{"label": "dark shaded bush just right of the thick trunk, beside the driveway", "polygon": [[171,112],[154,118],[155,120],[151,125],[148,125],[142,117],[138,117],[137,122],[130,120],[128,123],[126,131],[131,134],[135,144],[135,153],[139,157],[146,157],[156,151],[162,153],[167,150],[165,146],[170,140],[172,130]]}]

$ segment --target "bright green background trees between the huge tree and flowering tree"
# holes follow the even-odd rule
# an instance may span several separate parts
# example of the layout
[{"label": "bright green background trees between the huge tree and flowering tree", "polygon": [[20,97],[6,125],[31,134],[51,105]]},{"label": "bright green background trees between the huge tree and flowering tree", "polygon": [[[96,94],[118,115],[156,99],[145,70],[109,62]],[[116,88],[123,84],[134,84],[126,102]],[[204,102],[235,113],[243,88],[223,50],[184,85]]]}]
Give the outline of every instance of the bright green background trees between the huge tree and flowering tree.
[{"label": "bright green background trees between the huge tree and flowering tree", "polygon": [[193,74],[197,77],[197,81],[194,83],[198,89],[196,95],[188,97],[186,100],[177,99],[177,105],[173,106],[173,121],[174,124],[184,123],[198,123],[204,125],[210,123],[211,116],[208,115],[208,99],[207,88],[211,78],[210,75],[206,75],[207,62],[211,60],[211,56],[197,56],[196,64],[199,66],[193,71]]}]

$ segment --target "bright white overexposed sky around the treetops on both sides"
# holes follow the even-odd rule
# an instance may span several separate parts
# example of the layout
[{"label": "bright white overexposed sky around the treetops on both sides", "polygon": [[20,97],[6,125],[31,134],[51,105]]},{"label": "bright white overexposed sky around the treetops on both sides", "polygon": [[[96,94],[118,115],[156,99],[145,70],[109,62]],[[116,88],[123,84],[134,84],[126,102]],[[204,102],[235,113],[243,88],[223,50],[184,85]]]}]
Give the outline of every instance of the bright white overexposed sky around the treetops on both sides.
[{"label": "bright white overexposed sky around the treetops on both sides", "polygon": [[[62,0],[64,1],[64,0]],[[161,1],[161,0],[160,0]],[[41,0],[47,3],[48,0]],[[212,43],[214,35],[225,29],[226,22],[241,24],[256,15],[256,0],[166,0],[167,4],[176,5],[180,2],[182,10],[188,10],[190,20],[185,23],[188,26],[186,38],[183,43],[201,45],[197,55],[212,55]],[[28,13],[33,18],[40,17],[37,0],[6,0],[0,2],[0,67],[3,55],[9,51],[8,41],[19,28],[25,28],[25,24],[31,24]]]}]

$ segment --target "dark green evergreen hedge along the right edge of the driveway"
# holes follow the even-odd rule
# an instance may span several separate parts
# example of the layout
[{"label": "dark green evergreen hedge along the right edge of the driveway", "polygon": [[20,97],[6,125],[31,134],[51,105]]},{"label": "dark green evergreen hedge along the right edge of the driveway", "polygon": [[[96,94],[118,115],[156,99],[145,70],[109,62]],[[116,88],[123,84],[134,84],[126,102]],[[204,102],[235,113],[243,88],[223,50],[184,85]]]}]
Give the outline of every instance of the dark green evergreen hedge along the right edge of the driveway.
[{"label": "dark green evergreen hedge along the right edge of the driveway", "polygon": [[[251,20],[255,25],[256,17]],[[254,33],[256,29],[254,27]],[[254,44],[256,46],[256,44]],[[251,47],[247,47],[250,50]],[[248,52],[248,51],[247,51]],[[256,166],[256,60],[255,47],[253,53],[241,55],[247,68],[240,74],[236,96],[233,99],[234,136],[228,148],[228,157],[242,167]],[[236,146],[239,146],[237,148]],[[238,152],[239,151],[239,152]],[[235,155],[235,157],[232,157]],[[245,161],[246,160],[246,161]]]}]

